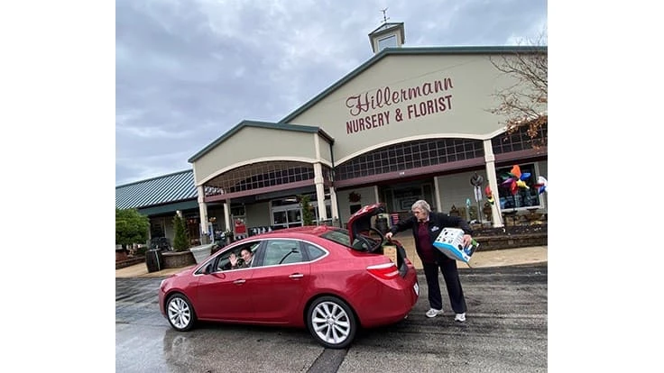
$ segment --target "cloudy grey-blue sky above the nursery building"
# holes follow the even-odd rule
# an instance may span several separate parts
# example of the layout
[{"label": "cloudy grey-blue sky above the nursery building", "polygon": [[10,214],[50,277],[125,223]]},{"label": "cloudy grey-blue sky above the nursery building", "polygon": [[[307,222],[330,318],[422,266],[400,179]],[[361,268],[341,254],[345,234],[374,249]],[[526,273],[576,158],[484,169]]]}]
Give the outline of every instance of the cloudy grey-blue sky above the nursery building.
[{"label": "cloudy grey-blue sky above the nursery building", "polygon": [[384,8],[405,47],[528,44],[548,26],[545,0],[116,0],[115,185],[278,122],[373,56]]}]

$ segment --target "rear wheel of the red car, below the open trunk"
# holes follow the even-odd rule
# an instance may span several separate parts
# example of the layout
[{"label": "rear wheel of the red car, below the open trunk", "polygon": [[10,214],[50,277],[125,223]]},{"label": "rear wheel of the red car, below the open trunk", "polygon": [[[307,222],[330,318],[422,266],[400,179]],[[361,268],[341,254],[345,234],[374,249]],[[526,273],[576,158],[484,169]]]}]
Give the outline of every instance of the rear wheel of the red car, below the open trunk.
[{"label": "rear wheel of the red car, below the open trunk", "polygon": [[344,349],[354,339],[358,324],[350,306],[336,296],[321,296],[307,310],[311,336],[329,349]]}]

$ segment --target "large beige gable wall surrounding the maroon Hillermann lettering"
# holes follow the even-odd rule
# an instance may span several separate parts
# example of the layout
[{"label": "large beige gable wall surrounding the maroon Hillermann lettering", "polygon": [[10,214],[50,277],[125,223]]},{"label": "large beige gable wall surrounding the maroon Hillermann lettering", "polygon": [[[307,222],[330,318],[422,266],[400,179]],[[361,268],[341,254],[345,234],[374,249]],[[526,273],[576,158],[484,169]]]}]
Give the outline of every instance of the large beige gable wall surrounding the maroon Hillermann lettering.
[{"label": "large beige gable wall surrounding the maroon Hillermann lettering", "polygon": [[[364,97],[365,93],[370,97],[376,96],[376,91],[383,91],[386,86],[392,92],[409,87],[421,88],[423,84],[445,78],[451,79],[452,87],[429,96],[383,105],[356,116],[350,114],[350,109],[346,107],[350,96]],[[500,118],[488,110],[497,105],[492,96],[496,87],[507,84],[506,78],[498,73],[486,55],[390,55],[291,123],[316,123],[335,138],[336,164],[394,142],[430,137],[485,139],[502,128]],[[418,117],[412,106],[409,110],[409,105],[419,108],[420,103],[429,100],[442,100],[445,110]],[[434,103],[439,104],[438,101]],[[441,105],[437,106],[442,109]],[[401,110],[401,122],[395,116],[398,110]],[[360,132],[347,132],[346,122],[373,114],[384,114],[383,125]],[[378,119],[378,116],[375,118]]]}]

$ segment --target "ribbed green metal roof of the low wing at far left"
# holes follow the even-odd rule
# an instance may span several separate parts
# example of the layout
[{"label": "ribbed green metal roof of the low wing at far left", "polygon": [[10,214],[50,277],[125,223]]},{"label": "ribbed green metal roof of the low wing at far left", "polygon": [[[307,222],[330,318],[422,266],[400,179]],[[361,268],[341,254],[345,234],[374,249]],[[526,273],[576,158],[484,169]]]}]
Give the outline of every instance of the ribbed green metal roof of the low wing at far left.
[{"label": "ribbed green metal roof of the low wing at far left", "polygon": [[115,207],[119,209],[141,209],[191,199],[198,205],[197,198],[193,169],[115,187]]}]

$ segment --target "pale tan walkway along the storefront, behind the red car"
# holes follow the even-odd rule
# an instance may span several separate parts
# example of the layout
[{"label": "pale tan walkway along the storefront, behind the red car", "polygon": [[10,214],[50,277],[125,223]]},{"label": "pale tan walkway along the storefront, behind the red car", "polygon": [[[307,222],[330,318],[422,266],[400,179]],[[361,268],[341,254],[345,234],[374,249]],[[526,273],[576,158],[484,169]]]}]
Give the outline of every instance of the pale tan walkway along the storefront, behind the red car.
[{"label": "pale tan walkway along the storefront, behind the red car", "polygon": [[[400,234],[395,237],[395,239],[400,241],[401,245],[406,249],[406,255],[408,255],[408,258],[413,262],[415,268],[422,268],[422,262],[420,261],[418,254],[415,252],[412,237]],[[482,246],[480,246],[479,250],[475,251],[475,254],[473,254],[473,258],[470,259],[469,264],[457,261],[457,267],[484,268],[544,263],[549,261],[547,250],[547,246],[532,246],[527,248],[483,251]],[[139,263],[134,266],[115,269],[115,277],[165,277],[189,267],[166,268],[148,273],[147,265],[145,263]]]}]

